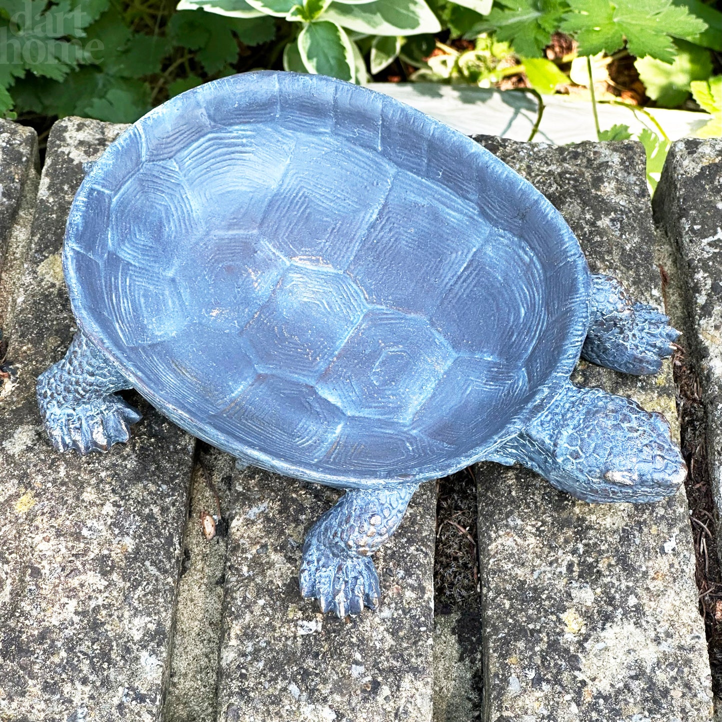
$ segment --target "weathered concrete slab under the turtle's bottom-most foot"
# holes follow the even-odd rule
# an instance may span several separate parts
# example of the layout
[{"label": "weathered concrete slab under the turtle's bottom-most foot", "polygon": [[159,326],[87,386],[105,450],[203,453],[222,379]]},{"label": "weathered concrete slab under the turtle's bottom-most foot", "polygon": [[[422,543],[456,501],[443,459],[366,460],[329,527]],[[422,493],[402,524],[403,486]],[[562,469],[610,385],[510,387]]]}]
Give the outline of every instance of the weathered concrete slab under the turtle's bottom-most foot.
[{"label": "weathered concrete slab under the turtle's bottom-most foot", "polygon": [[297,581],[305,532],[338,492],[252,467],[233,486],[219,722],[430,722],[434,485],[374,555],[380,609],[347,621]]}]

